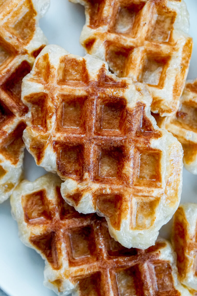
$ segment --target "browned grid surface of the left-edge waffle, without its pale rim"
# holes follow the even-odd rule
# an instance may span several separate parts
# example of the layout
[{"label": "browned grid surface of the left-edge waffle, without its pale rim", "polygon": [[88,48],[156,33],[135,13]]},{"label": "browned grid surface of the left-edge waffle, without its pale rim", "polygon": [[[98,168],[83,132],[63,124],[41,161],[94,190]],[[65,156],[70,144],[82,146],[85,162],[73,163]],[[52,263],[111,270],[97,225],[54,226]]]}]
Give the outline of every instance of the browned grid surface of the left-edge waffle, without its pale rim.
[{"label": "browned grid surface of the left-edge waffle, without its pale rim", "polygon": [[[37,12],[32,1],[16,1],[14,9],[9,2],[6,1],[5,6],[3,3],[0,5],[1,10],[5,10],[5,13],[9,15],[1,24],[2,36],[0,37],[0,153],[5,160],[9,160],[12,165],[16,166],[25,147],[22,133],[26,127],[24,116],[28,111],[28,107],[21,100],[22,79],[30,72],[34,62],[33,58],[45,45],[39,46],[32,53],[27,50],[27,45],[35,35],[37,22]],[[6,40],[7,35],[12,36],[12,40]],[[7,182],[2,187],[5,192],[8,192],[14,184]]]}]

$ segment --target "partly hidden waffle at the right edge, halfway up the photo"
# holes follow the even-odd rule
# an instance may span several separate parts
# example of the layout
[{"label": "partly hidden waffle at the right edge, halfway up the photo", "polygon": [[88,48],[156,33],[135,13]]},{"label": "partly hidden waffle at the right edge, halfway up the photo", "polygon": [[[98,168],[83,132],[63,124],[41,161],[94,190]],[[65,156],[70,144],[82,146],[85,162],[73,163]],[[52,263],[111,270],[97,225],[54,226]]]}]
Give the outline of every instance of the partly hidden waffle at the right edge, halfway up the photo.
[{"label": "partly hidden waffle at the right edge, halfway up the photo", "polygon": [[180,141],[185,168],[197,174],[197,80],[187,81],[175,115],[163,118],[152,115],[159,127],[166,128]]}]

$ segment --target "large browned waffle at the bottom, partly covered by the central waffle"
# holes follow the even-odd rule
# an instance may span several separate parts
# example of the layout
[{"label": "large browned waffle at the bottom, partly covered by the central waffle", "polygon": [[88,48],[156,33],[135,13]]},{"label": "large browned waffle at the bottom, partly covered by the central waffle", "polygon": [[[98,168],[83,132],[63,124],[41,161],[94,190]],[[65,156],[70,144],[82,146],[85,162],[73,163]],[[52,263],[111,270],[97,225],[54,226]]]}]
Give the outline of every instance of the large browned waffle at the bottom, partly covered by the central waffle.
[{"label": "large browned waffle at the bottom, partly covered by the central waffle", "polygon": [[45,259],[44,284],[58,295],[180,296],[175,254],[158,239],[143,251],[126,249],[97,215],[79,214],[60,194],[52,174],[23,181],[11,196],[23,243]]}]

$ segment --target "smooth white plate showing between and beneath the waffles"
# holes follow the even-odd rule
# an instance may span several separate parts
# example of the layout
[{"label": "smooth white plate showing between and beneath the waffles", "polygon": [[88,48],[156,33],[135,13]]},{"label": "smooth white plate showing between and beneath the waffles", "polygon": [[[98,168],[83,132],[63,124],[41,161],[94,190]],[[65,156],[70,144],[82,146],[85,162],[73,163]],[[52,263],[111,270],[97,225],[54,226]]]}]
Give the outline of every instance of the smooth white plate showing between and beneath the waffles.
[{"label": "smooth white plate showing between and beneath the waffles", "polygon": [[[190,12],[190,34],[194,39],[188,79],[197,77],[197,1],[186,0]],[[49,44],[58,44],[69,52],[84,55],[79,36],[85,23],[84,8],[67,0],[51,0],[51,7],[40,21],[40,27]],[[34,181],[45,174],[25,152],[25,178]],[[183,172],[181,202],[197,202],[197,176]],[[160,234],[169,238],[170,225],[163,226]],[[25,247],[18,238],[17,223],[12,219],[9,200],[0,205],[0,287],[10,296],[55,296],[43,286],[44,261],[32,249]]]}]

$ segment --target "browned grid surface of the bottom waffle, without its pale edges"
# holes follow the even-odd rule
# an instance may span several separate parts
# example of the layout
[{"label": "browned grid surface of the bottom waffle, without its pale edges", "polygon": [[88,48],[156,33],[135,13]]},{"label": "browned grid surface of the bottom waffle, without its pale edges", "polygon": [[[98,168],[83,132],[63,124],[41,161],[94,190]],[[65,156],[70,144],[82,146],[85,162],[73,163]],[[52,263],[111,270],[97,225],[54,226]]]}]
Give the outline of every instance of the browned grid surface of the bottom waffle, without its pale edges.
[{"label": "browned grid surface of the bottom waffle, without its pale edges", "polygon": [[[144,289],[148,288],[144,272],[148,266],[156,295],[180,296],[173,284],[170,264],[160,260],[157,253],[157,250],[166,247],[165,242],[156,242],[146,250],[123,247],[110,237],[105,219],[76,212],[63,200],[59,187],[56,187],[53,200],[47,198],[45,189],[23,195],[22,207],[31,232],[30,243],[42,253],[54,270],[62,268],[61,247],[65,243],[68,268],[75,268],[74,272],[69,273],[69,280],[79,285],[80,295],[86,296],[87,292],[108,295],[110,281],[114,283],[111,287],[116,296],[122,295],[120,289],[129,293],[134,291],[141,296]],[[38,226],[41,232],[34,235]],[[89,274],[82,275],[82,268],[87,265]],[[122,283],[121,276],[126,276],[128,286]],[[61,290],[62,279],[57,278],[55,284]],[[102,289],[97,290],[98,287]]]}]

